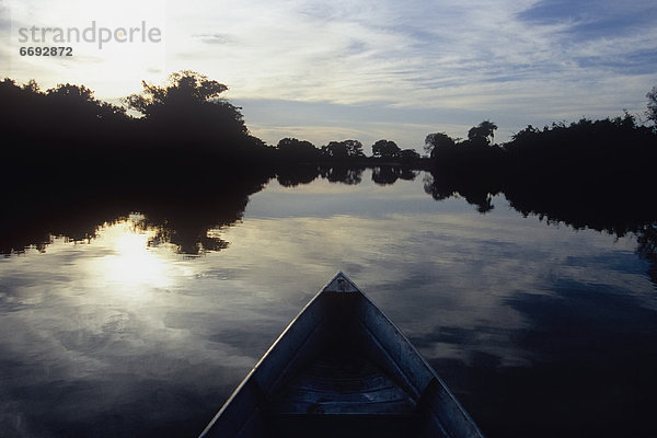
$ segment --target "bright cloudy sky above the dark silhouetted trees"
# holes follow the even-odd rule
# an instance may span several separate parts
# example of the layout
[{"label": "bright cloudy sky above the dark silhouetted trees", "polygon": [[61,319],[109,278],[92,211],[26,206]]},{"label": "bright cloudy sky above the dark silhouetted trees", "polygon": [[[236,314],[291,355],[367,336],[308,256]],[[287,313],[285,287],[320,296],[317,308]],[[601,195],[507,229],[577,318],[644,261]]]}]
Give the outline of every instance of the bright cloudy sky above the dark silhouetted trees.
[{"label": "bright cloudy sky above the dark silhouetted trees", "polygon": [[[654,0],[0,0],[0,74],[118,103],[194,70],[268,143],[422,151],[484,119],[507,141],[530,124],[643,117],[655,23]],[[20,55],[44,45],[72,56]]]}]

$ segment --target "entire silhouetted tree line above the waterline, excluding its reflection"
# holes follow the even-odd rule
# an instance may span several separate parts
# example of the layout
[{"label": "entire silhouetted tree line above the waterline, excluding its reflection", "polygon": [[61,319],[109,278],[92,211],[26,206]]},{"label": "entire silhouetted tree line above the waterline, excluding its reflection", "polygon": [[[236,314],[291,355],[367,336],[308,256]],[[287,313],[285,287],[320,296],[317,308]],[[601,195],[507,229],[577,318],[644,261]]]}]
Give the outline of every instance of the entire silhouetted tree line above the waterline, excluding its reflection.
[{"label": "entire silhouetted tree line above the waterline, excluding its reflection", "polygon": [[[319,148],[297,138],[266,145],[249,132],[241,108],[222,99],[227,90],[218,81],[185,70],[172,73],[163,85],[142,81],[141,93],[123,99],[122,105],[113,105],[96,100],[84,85],[66,83],[42,91],[34,80],[19,85],[4,79],[0,82],[3,102],[0,123],[5,137],[14,143],[57,145],[60,154],[68,153],[73,161],[74,155],[102,151],[106,159],[112,152],[151,159],[178,158],[184,153],[219,161],[299,163],[378,159],[422,165],[417,151],[402,150],[387,139],[371,145],[371,157],[366,157],[364,145],[354,139],[330,141]],[[647,118],[657,123],[657,88],[647,97]],[[426,158],[441,171],[461,172],[465,165],[471,174],[472,170],[485,174],[492,166],[508,170],[532,164],[532,160],[554,161],[558,157],[573,161],[583,153],[591,157],[600,152],[600,146],[607,153],[613,149],[611,142],[644,141],[655,134],[654,128],[636,124],[629,114],[615,119],[581,119],[569,126],[553,124],[542,130],[530,125],[504,145],[494,143],[496,129],[495,123],[484,120],[473,126],[465,139],[453,139],[445,132],[429,134],[424,145]],[[597,142],[597,150],[585,150],[592,141]],[[569,146],[565,147],[566,143]]]}]

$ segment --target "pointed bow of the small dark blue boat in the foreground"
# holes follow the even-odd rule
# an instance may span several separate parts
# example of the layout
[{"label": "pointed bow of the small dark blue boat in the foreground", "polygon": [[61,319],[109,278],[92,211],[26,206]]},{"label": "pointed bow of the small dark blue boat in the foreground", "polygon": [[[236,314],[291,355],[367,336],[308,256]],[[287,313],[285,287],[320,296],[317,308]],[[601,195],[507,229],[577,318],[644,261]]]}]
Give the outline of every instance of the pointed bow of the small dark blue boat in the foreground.
[{"label": "pointed bow of the small dark blue boat in the foreground", "polygon": [[402,332],[338,273],[200,437],[365,436],[483,437]]}]

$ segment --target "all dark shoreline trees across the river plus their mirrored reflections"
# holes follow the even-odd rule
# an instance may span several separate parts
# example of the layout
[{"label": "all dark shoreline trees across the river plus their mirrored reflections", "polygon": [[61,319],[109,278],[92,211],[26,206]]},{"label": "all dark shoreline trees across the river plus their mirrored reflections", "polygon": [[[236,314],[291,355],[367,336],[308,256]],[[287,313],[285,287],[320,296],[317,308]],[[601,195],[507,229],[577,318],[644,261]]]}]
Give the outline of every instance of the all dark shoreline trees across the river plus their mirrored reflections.
[{"label": "all dark shoreline trees across the river plus their mirrored reflections", "polygon": [[316,177],[358,184],[371,168],[377,184],[426,171],[425,192],[434,199],[461,196],[482,214],[504,194],[525,216],[634,233],[657,277],[657,88],[647,94],[653,126],[625,112],[542,129],[530,125],[497,145],[497,126],[484,120],[464,139],[428,134],[424,157],[387,139],[367,157],[354,139],[266,145],[250,134],[241,108],[221,97],[228,88],[193,71],[142,87],[117,106],[84,85],[42,91],[34,80],[0,82],[10,184],[0,198],[8,212],[0,219],[0,252],[44,250],[54,235],[89,240],[130,211],[146,215],[143,227],[157,228],[158,241],[182,253],[218,251],[228,242],[208,238],[207,230],[240,220],[249,196],[272,178],[285,186]]}]

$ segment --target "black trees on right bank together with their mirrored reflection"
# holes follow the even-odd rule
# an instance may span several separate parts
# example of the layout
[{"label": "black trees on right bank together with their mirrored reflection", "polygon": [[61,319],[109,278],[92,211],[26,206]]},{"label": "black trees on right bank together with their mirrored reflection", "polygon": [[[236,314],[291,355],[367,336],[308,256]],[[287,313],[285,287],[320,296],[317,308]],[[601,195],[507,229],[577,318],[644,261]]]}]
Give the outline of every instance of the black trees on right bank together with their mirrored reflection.
[{"label": "black trees on right bank together with their mirrored reflection", "polygon": [[[522,215],[576,229],[590,228],[618,237],[637,235],[638,254],[655,266],[654,168],[657,131],[633,116],[532,126],[502,148],[491,146],[484,122],[457,141],[442,132],[427,136],[433,169],[425,191],[435,199],[463,196],[480,212],[494,208],[504,193]],[[492,131],[491,131],[492,134]]]}]

